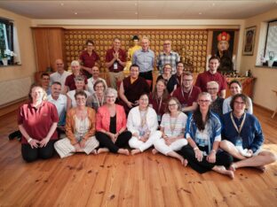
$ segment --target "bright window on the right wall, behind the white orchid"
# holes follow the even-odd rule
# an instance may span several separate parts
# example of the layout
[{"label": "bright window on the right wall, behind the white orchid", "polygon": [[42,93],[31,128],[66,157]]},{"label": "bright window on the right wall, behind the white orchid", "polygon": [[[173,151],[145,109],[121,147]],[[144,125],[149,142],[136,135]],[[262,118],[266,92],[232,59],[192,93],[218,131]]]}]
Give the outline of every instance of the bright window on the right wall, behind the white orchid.
[{"label": "bright window on the right wall, behind the white orchid", "polygon": [[269,61],[277,59],[277,19],[268,22],[264,57]]}]

